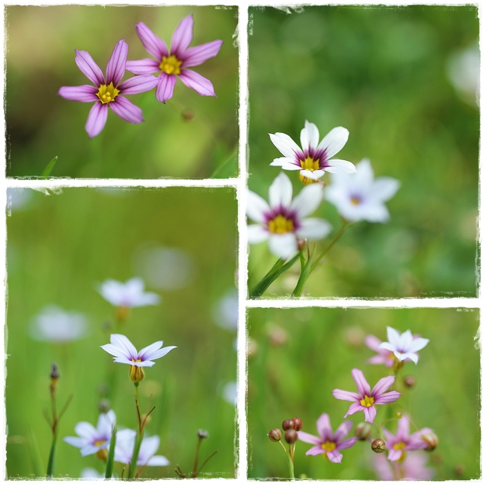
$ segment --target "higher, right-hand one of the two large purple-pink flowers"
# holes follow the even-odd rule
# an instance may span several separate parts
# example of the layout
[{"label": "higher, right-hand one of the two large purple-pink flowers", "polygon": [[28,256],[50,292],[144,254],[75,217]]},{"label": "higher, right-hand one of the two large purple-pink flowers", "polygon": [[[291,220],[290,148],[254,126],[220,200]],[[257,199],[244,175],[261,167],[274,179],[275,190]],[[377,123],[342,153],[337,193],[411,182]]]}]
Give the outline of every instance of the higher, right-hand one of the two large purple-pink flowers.
[{"label": "higher, right-hand one of the two large purple-pink flowers", "polygon": [[203,43],[200,46],[188,47],[192,42],[194,19],[192,14],[181,19],[172,35],[168,50],[166,43],[157,37],[143,22],[137,23],[137,34],[148,54],[155,59],[128,61],[126,69],[133,74],[152,74],[159,72],[157,99],[165,103],[173,96],[177,76],[201,96],[215,96],[212,83],[198,72],[188,68],[199,66],[211,57],[215,57],[221,48],[222,41]]}]

